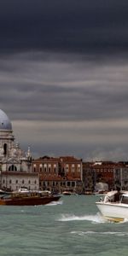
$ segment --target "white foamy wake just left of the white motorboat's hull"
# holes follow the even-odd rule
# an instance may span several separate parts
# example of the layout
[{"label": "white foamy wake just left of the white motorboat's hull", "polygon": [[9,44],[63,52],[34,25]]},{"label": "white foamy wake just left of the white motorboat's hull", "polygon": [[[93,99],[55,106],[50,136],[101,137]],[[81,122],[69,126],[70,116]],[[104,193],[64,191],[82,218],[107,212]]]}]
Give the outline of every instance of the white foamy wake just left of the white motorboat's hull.
[{"label": "white foamy wake just left of the white motorboat's hull", "polygon": [[58,219],[58,221],[74,221],[74,220],[77,220],[77,221],[87,220],[87,221],[91,221],[92,223],[106,222],[99,213],[97,213],[96,215],[84,215],[84,216],[62,214],[61,218]]}]

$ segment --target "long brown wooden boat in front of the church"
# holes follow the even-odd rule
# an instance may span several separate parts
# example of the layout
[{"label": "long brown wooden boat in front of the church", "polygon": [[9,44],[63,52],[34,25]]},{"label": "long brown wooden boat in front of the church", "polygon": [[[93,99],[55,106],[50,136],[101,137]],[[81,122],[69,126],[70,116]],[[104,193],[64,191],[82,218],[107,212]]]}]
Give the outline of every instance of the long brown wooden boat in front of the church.
[{"label": "long brown wooden boat in front of the church", "polygon": [[59,195],[46,195],[44,191],[15,191],[0,198],[1,206],[38,206],[59,201]]}]

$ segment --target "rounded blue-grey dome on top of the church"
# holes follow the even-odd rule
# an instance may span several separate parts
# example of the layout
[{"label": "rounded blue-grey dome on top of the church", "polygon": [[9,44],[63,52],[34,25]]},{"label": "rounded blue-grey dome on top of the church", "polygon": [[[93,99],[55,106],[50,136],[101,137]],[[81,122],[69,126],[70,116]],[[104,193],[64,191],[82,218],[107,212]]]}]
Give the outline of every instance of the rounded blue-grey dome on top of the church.
[{"label": "rounded blue-grey dome on top of the church", "polygon": [[12,130],[12,124],[6,113],[0,109],[0,130]]}]

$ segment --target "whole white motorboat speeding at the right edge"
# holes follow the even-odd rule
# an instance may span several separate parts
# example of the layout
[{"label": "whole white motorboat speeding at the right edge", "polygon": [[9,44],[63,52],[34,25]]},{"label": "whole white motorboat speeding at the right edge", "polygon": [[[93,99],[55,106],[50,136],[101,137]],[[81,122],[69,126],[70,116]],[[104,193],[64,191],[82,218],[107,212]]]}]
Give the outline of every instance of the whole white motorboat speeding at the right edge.
[{"label": "whole white motorboat speeding at the right edge", "polygon": [[110,221],[120,222],[128,219],[128,191],[110,191],[96,201],[96,206],[104,218]]}]

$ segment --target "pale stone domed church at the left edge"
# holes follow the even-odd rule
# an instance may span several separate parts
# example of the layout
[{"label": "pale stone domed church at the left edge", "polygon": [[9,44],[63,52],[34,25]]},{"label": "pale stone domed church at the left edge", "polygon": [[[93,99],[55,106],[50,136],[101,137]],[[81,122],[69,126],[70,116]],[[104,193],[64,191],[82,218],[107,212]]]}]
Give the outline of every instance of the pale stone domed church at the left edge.
[{"label": "pale stone domed church at the left edge", "polygon": [[38,189],[38,174],[32,172],[32,156],[28,147],[25,154],[19,143],[15,143],[12,124],[0,109],[0,187],[18,190],[21,187]]}]

